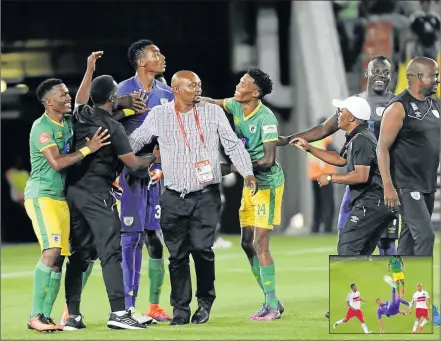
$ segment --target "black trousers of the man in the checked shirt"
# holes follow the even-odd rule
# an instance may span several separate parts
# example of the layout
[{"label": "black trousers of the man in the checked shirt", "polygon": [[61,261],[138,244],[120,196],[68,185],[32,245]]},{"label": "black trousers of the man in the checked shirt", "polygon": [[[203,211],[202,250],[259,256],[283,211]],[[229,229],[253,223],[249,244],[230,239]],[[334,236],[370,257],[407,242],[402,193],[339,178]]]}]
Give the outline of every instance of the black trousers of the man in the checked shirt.
[{"label": "black trousers of the man in the checked shirt", "polygon": [[184,198],[169,189],[161,195],[161,229],[170,253],[170,304],[175,317],[187,318],[190,315],[190,254],[196,270],[199,306],[210,311],[216,298],[212,246],[220,204],[218,185],[187,194]]}]

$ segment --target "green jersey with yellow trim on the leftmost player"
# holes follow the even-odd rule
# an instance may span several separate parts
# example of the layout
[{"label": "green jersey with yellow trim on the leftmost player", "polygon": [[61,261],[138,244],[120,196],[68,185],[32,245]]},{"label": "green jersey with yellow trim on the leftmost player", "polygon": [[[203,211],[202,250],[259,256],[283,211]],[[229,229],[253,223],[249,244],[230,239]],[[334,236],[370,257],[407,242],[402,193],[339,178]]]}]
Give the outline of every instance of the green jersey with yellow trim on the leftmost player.
[{"label": "green jersey with yellow trim on the leftmost player", "polygon": [[70,150],[71,138],[72,131],[64,119],[58,123],[45,113],[34,122],[29,136],[31,175],[26,183],[25,199],[40,197],[65,199],[65,174],[51,167],[43,155],[43,150],[57,146],[60,154],[67,154]]}]

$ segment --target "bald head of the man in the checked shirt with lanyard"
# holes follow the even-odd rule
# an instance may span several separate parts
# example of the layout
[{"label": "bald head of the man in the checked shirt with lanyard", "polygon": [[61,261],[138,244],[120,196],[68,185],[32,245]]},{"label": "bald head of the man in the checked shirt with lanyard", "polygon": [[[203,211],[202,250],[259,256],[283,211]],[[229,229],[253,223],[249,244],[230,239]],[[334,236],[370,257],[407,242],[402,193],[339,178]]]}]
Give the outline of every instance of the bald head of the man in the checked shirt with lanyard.
[{"label": "bald head of the man in the checked shirt with lanyard", "polygon": [[202,83],[197,74],[182,70],[176,72],[171,80],[173,94],[177,101],[194,105],[201,101]]}]

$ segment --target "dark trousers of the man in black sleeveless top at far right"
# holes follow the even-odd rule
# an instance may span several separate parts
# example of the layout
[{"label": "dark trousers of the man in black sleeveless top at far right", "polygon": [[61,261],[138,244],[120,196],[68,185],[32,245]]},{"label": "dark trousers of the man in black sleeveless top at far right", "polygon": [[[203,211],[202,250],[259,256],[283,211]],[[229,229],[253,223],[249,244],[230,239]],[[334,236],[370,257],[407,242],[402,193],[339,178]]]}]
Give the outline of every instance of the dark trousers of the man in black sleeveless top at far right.
[{"label": "dark trousers of the man in black sleeveless top at far right", "polygon": [[398,190],[401,202],[401,233],[397,254],[432,256],[435,243],[432,213],[435,193]]}]

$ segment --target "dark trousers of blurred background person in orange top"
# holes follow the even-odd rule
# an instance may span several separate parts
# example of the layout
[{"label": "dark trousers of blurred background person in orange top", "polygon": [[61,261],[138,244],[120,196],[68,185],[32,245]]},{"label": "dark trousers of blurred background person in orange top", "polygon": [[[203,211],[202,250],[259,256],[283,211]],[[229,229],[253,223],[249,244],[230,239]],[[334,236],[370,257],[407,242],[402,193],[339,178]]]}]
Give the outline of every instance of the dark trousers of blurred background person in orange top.
[{"label": "dark trousers of blurred background person in orange top", "polygon": [[334,225],[334,186],[321,187],[317,181],[312,181],[312,191],[314,194],[314,221],[312,222],[311,232],[318,233],[320,225],[323,223],[325,232],[332,232]]}]

